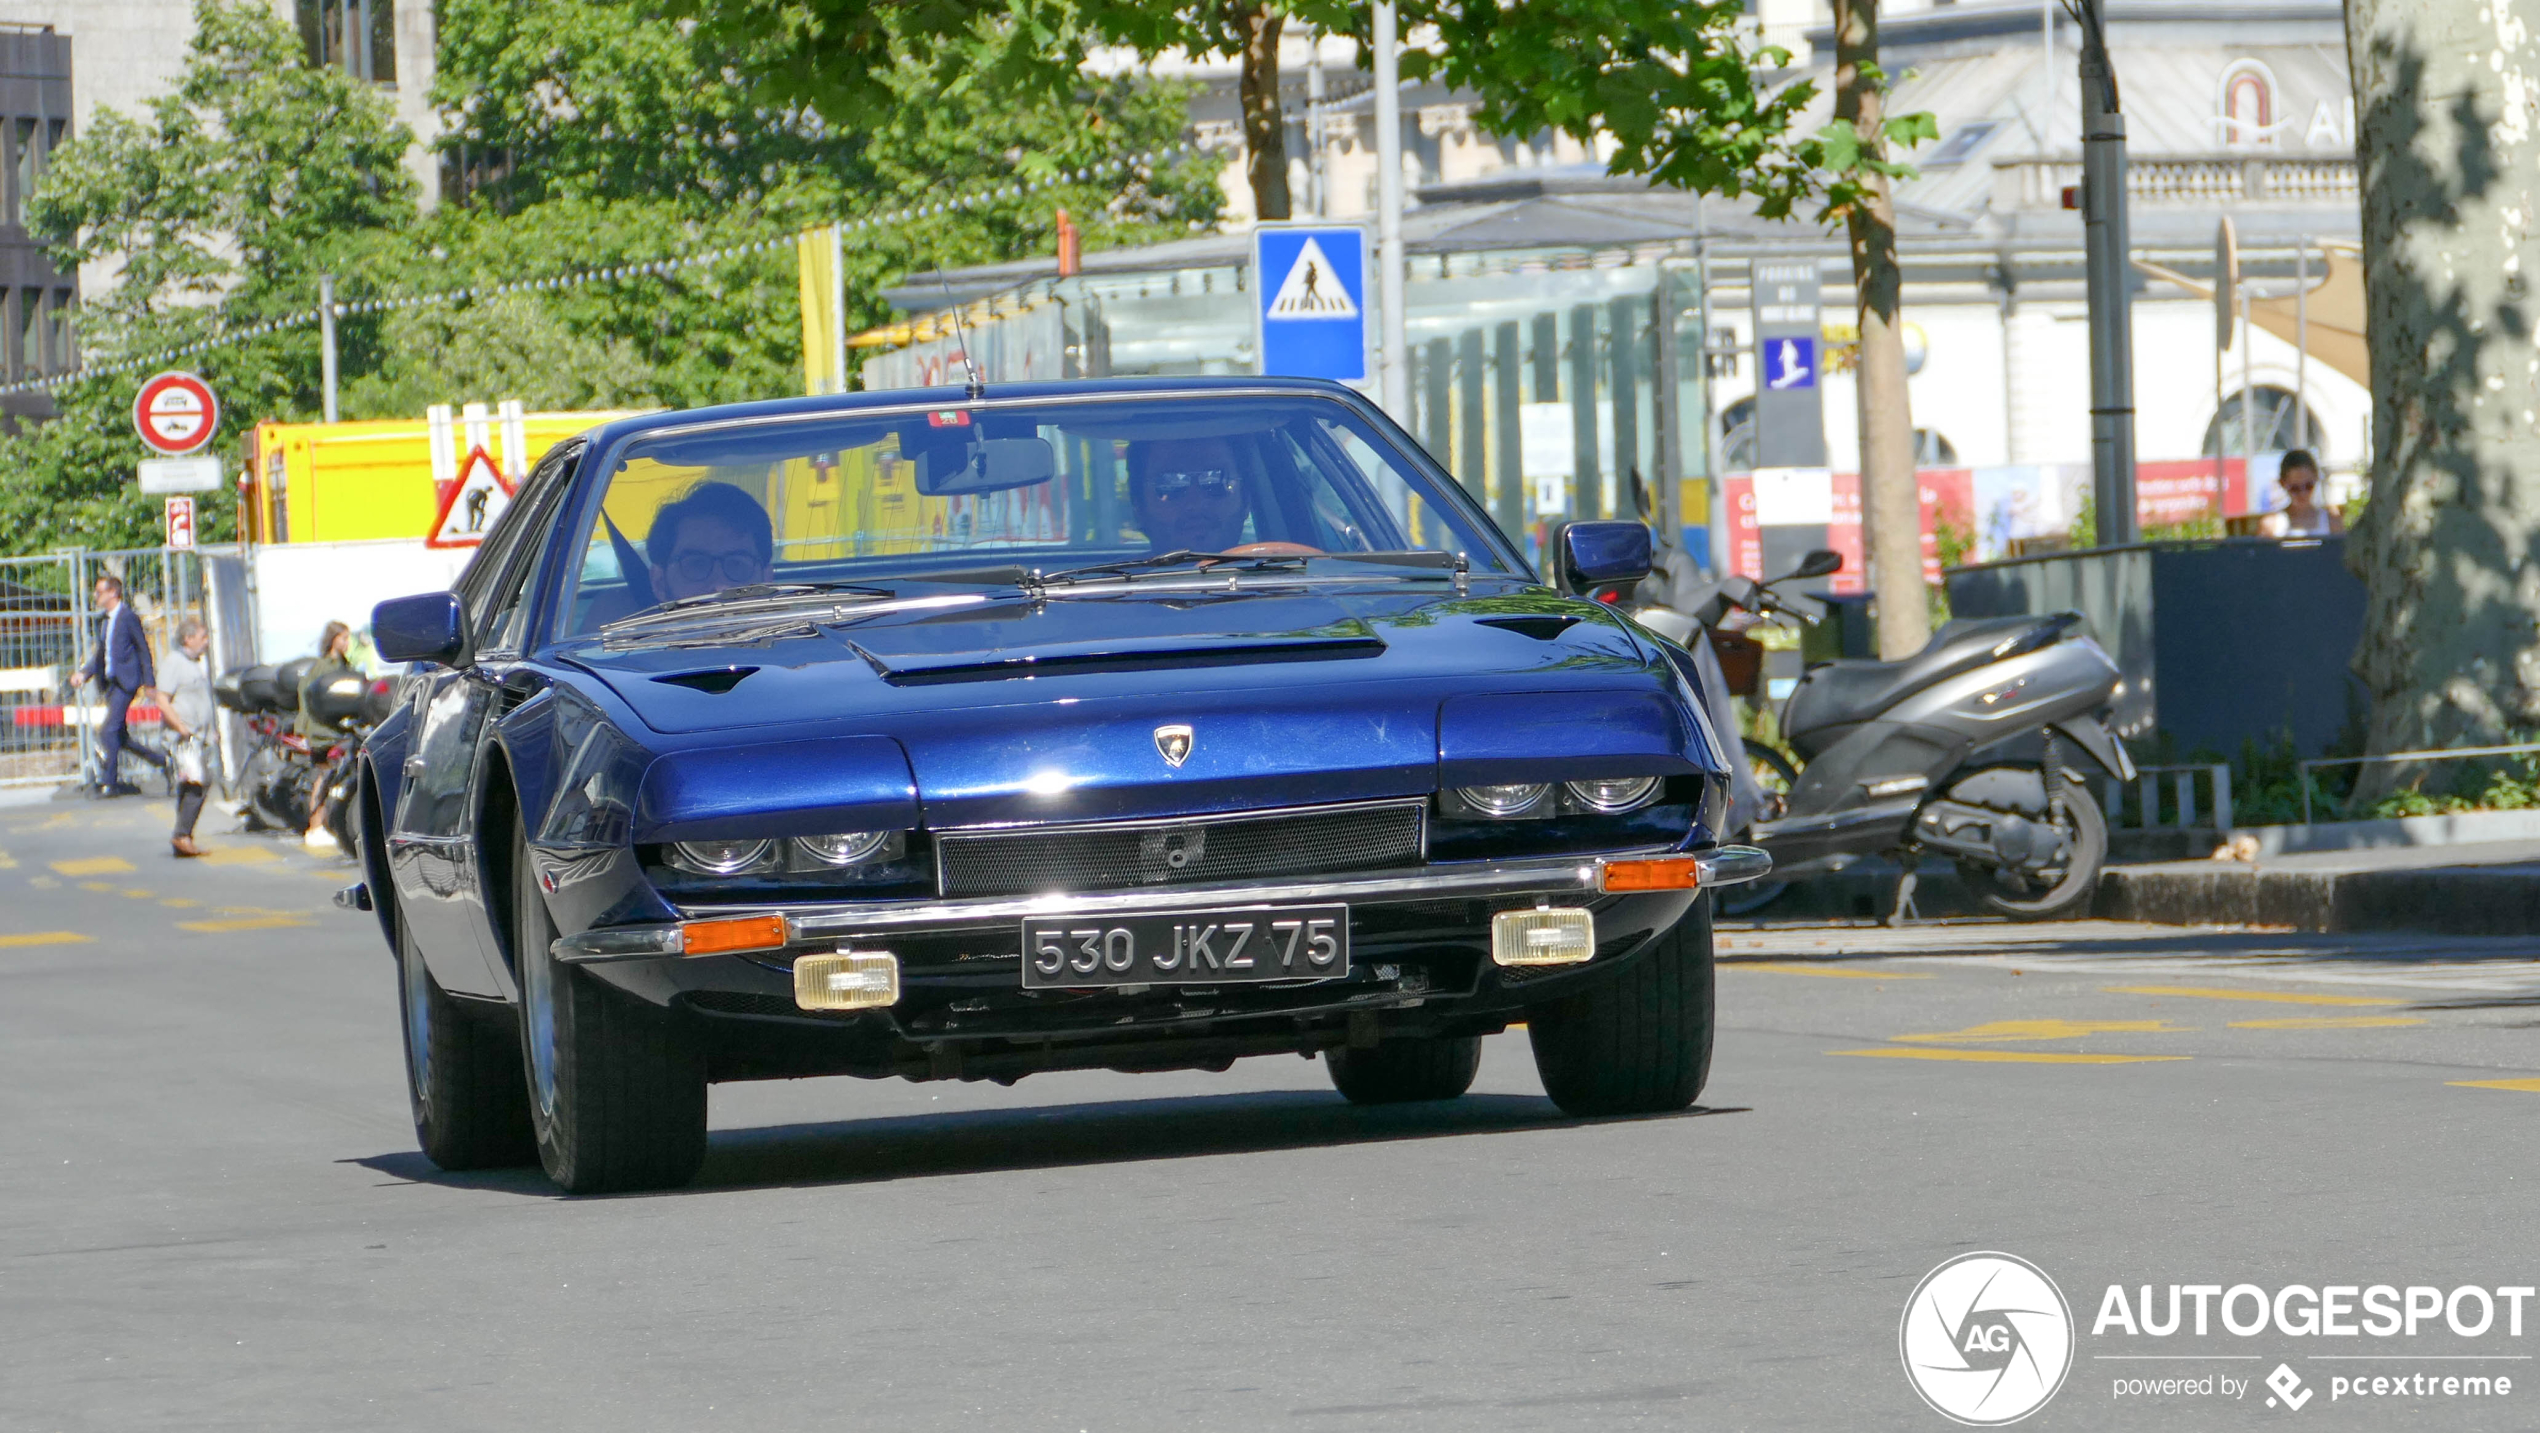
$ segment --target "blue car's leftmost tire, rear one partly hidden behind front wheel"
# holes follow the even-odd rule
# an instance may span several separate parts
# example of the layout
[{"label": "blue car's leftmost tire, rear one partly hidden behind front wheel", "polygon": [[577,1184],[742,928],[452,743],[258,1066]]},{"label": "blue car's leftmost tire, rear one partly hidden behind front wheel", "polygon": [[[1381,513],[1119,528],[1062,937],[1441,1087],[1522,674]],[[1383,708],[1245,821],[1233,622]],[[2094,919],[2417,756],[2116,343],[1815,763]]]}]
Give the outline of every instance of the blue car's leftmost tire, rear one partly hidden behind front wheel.
[{"label": "blue car's leftmost tire, rear one partly hidden behind front wheel", "polygon": [[[386,897],[376,897],[386,899]],[[404,920],[396,927],[396,1009],[406,1026],[414,1141],[439,1169],[505,1169],[538,1159],[518,1039],[498,1011],[442,991]]]}]

